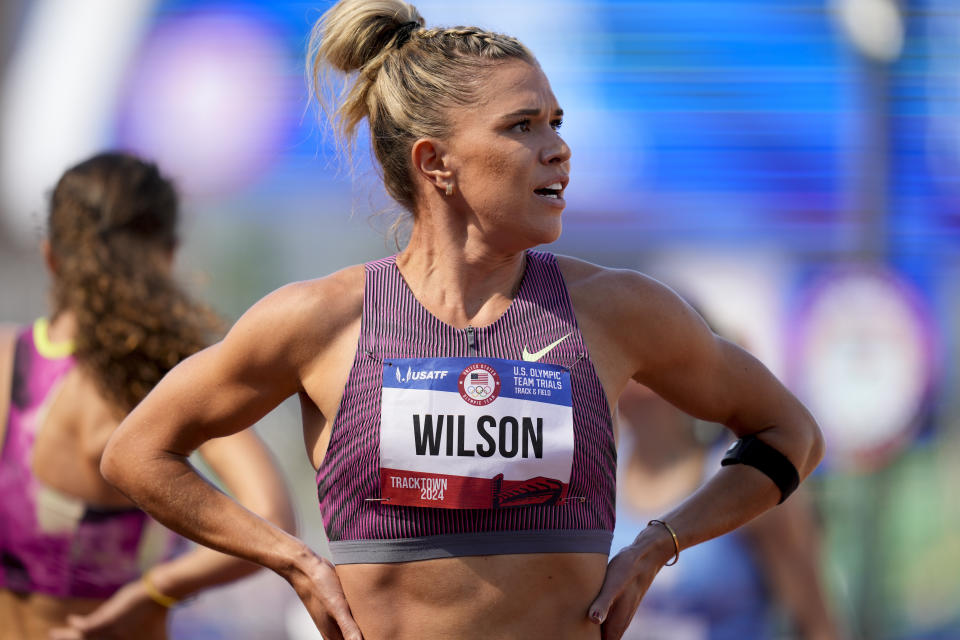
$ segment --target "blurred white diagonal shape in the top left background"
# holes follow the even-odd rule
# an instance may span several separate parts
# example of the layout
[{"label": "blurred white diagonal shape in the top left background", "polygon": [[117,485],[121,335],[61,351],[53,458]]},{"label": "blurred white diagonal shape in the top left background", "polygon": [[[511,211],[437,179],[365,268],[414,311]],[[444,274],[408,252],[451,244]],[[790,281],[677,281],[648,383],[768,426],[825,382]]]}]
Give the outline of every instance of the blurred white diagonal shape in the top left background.
[{"label": "blurred white diagonal shape in the top left background", "polygon": [[0,211],[38,238],[63,171],[101,151],[127,65],[156,0],[38,0],[0,90]]}]

